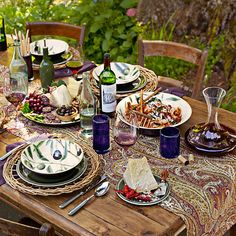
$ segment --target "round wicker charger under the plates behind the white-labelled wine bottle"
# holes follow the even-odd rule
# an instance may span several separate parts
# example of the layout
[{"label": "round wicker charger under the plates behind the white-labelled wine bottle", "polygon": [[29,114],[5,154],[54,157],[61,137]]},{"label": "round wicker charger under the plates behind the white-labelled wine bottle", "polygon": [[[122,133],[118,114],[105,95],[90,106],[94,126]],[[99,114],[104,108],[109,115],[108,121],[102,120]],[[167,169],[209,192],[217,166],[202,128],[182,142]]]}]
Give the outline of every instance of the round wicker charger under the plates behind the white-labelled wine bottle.
[{"label": "round wicker charger under the plates behind the white-labelled wine bottle", "polygon": [[[143,88],[144,91],[147,91],[147,92],[148,91],[155,91],[157,89],[157,84],[158,84],[157,75],[149,69],[146,69],[146,68],[139,66],[139,65],[136,65],[136,66],[140,70],[141,76],[143,76],[147,80],[147,84]],[[91,84],[94,94],[96,96],[100,96],[100,91],[99,91],[99,88],[97,87],[97,82],[92,76],[90,76],[90,84]],[[124,94],[117,94],[116,97],[117,97],[117,99],[121,99],[121,98],[129,96],[131,94],[133,94],[133,92],[124,93]]]}]

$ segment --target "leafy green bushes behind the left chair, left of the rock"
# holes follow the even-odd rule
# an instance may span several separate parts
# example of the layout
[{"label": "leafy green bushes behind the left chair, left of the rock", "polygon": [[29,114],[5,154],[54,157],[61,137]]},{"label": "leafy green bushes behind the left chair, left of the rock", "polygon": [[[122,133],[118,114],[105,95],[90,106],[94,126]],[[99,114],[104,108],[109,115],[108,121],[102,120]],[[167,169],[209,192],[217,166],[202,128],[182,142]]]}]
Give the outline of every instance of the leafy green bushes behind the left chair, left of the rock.
[{"label": "leafy green bushes behind the left chair, left of the rock", "polygon": [[13,29],[25,31],[26,21],[86,24],[87,59],[102,63],[103,54],[110,52],[112,60],[136,63],[136,41],[141,28],[126,11],[137,3],[138,0],[8,0],[0,7],[7,33],[13,33]]}]

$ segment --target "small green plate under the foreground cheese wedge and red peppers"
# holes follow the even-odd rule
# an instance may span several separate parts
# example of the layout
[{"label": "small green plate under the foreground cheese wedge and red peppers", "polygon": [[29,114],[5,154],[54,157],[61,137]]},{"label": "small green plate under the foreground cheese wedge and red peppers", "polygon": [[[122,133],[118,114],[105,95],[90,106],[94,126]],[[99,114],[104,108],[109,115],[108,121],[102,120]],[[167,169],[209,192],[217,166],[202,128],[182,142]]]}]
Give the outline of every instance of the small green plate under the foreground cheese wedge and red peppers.
[{"label": "small green plate under the foreground cheese wedge and red peppers", "polygon": [[[121,198],[123,201],[130,203],[132,205],[136,205],[136,206],[152,206],[152,205],[156,205],[159,204],[161,202],[163,202],[164,200],[166,200],[168,198],[168,196],[170,195],[170,185],[168,182],[162,182],[161,178],[154,175],[154,178],[156,179],[157,183],[160,185],[164,185],[165,186],[165,194],[162,196],[158,196],[155,198],[152,198],[152,200],[150,202],[145,202],[145,201],[138,201],[135,199],[128,199],[126,198],[123,194],[116,192],[117,196],[119,198]],[[124,185],[125,185],[125,181],[124,179],[120,179],[118,181],[118,183],[116,184],[116,190],[123,190],[124,189]]]}]

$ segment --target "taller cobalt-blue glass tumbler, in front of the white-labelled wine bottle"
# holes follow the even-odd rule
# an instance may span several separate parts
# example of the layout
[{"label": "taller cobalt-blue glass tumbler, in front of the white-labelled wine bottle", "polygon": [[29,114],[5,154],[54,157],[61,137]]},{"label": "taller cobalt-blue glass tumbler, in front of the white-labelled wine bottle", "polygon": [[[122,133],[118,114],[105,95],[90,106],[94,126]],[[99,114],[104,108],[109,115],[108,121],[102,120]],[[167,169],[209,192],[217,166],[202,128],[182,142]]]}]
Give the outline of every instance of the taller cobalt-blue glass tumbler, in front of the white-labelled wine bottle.
[{"label": "taller cobalt-blue glass tumbler, in front of the white-labelled wine bottle", "polygon": [[105,154],[110,149],[110,121],[107,115],[93,117],[93,149],[98,154]]}]

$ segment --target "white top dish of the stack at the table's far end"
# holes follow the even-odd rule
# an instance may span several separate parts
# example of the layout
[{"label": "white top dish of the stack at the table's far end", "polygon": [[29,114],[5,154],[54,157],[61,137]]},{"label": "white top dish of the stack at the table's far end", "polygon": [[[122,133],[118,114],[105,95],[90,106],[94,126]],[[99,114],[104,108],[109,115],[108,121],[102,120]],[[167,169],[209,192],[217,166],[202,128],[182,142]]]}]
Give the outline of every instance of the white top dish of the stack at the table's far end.
[{"label": "white top dish of the stack at the table's far end", "polygon": [[[64,53],[69,48],[69,45],[66,42],[58,39],[46,39],[46,46],[48,47],[49,56],[54,56]],[[44,39],[32,42],[30,44],[30,52],[32,55],[35,56],[43,56],[43,47],[44,47]]]}]

